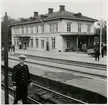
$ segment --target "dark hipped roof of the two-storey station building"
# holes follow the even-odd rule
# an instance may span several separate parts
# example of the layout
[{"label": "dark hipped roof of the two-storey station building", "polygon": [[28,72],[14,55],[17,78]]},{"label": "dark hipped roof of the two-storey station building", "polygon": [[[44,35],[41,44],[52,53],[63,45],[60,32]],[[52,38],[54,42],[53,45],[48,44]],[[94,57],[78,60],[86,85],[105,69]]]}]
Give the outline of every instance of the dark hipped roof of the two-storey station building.
[{"label": "dark hipped roof of the two-storey station building", "polygon": [[89,21],[89,22],[98,21],[96,19],[83,16],[81,13],[75,14],[75,13],[68,12],[68,11],[64,10],[64,11],[53,12],[50,14],[38,15],[36,17],[31,17],[28,20],[21,21],[21,22],[15,23],[15,24],[21,25],[21,24],[31,24],[31,23],[35,23],[35,22],[40,23],[40,22],[45,22],[45,21],[57,20],[57,19],[70,19],[70,20],[79,20],[79,21],[81,20],[81,21]]}]

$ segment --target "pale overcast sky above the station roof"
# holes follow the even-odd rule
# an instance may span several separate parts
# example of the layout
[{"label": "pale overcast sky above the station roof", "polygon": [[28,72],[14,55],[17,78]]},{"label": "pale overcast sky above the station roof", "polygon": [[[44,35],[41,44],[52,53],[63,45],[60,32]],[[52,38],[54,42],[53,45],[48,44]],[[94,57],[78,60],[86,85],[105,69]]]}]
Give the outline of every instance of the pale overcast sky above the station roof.
[{"label": "pale overcast sky above the station roof", "polygon": [[[104,20],[107,19],[107,0],[1,0],[1,16],[5,12],[12,18],[33,16],[33,12],[40,14],[48,13],[48,8],[59,10],[59,5],[65,5],[65,10]],[[101,8],[102,6],[102,8]],[[102,15],[101,15],[102,10]]]}]

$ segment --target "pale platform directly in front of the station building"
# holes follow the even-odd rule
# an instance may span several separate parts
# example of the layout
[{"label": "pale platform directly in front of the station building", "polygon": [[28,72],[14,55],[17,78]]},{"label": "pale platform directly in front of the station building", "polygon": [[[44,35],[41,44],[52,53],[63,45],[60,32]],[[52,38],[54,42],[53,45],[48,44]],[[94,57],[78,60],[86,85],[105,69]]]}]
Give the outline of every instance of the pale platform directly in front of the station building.
[{"label": "pale platform directly in front of the station building", "polygon": [[81,52],[77,54],[77,52],[30,51],[21,49],[16,50],[15,53],[107,65],[107,56],[104,56],[103,58],[100,56],[100,61],[95,61],[94,57]]}]

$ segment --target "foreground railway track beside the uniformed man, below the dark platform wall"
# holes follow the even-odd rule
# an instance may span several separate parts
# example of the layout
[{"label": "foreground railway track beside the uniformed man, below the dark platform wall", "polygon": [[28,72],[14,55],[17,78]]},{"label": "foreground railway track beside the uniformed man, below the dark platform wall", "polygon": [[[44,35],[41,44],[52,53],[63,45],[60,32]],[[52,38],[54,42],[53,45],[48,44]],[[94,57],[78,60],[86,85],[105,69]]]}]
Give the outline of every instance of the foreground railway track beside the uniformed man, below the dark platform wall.
[{"label": "foreground railway track beside the uniformed man, below the dark platform wall", "polygon": [[[8,76],[11,77],[11,73]],[[2,87],[4,86],[3,83],[1,83],[1,85]],[[33,83],[31,90],[32,95],[28,97],[28,101],[32,104],[86,104],[86,102],[61,94],[36,83]],[[14,92],[11,87],[9,87],[9,91],[11,94]]]}]

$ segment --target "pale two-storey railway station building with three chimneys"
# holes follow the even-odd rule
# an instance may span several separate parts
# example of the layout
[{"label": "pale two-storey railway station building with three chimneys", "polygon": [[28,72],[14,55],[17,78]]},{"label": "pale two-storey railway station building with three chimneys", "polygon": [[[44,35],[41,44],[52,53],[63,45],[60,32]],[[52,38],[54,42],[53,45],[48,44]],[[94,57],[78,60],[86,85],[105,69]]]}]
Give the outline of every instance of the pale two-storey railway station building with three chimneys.
[{"label": "pale two-storey railway station building with three chimneys", "polygon": [[64,5],[54,12],[34,16],[12,25],[12,44],[16,48],[25,45],[27,49],[64,52],[77,51],[82,45],[94,43],[94,22],[96,19],[65,10]]}]

